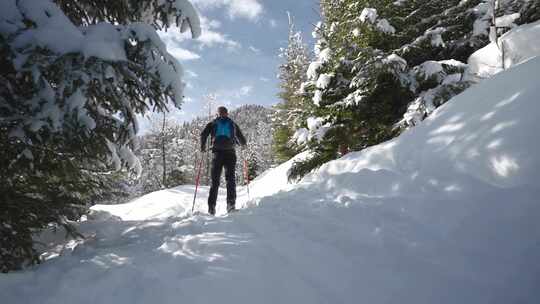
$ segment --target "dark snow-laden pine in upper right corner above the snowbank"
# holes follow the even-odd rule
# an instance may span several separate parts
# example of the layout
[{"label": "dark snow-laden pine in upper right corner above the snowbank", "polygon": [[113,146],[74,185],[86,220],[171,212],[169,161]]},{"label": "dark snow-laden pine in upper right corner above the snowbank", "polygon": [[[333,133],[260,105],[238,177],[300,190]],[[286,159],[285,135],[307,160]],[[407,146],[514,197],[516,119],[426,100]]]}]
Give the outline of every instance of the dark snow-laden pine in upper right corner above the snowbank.
[{"label": "dark snow-laden pine in upper right corner above the snowbank", "polygon": [[414,94],[398,127],[414,126],[469,87],[475,81],[467,73],[469,56],[495,39],[495,32],[500,36],[517,24],[538,20],[539,5],[537,0],[397,2],[400,47],[394,52],[407,63]]}]

